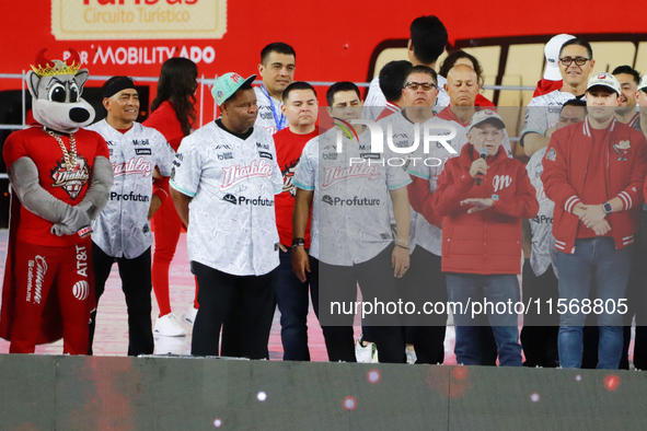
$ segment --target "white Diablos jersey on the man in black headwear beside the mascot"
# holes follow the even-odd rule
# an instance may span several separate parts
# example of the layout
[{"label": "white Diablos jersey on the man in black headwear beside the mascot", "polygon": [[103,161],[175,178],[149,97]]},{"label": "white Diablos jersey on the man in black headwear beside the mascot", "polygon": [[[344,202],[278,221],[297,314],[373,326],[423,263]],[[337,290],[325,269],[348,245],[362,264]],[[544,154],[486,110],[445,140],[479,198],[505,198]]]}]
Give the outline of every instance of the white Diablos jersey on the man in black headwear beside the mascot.
[{"label": "white Diablos jersey on the man in black headwear beside the mascot", "polygon": [[139,123],[125,133],[105,119],[88,129],[107,142],[115,173],[109,200],[92,221],[92,241],[108,256],[136,258],[153,243],[148,221],[153,170],[171,175],[173,149],[162,133]]}]

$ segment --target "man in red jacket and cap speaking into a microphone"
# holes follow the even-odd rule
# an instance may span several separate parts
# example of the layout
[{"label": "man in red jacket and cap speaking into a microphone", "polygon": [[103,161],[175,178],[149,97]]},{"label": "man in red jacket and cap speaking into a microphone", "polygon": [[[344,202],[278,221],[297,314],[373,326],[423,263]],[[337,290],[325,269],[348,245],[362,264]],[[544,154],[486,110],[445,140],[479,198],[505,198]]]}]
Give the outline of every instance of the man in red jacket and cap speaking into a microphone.
[{"label": "man in red jacket and cap speaking into a microphone", "polygon": [[525,168],[501,147],[504,130],[494,110],[474,114],[471,144],[447,162],[432,196],[434,210],[443,215],[442,271],[454,303],[454,353],[465,365],[480,363],[478,328],[470,325],[472,312],[481,311],[493,326],[499,363],[521,366],[517,313],[513,306],[501,313],[500,304],[519,301],[521,219],[536,215],[539,203]]}]

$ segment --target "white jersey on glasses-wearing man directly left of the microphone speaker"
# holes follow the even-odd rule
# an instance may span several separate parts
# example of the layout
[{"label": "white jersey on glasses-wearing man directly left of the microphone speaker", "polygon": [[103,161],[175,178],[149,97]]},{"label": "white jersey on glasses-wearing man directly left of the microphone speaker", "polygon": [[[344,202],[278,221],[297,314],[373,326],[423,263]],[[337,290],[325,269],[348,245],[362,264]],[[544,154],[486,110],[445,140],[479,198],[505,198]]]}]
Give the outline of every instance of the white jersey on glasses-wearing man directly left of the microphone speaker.
[{"label": "white jersey on glasses-wearing man directly left of the microphone speaker", "polygon": [[[457,136],[453,139],[446,140],[446,142],[455,151],[455,154],[449,152],[449,150],[438,141],[430,142],[429,153],[425,154],[423,137],[420,137],[420,145],[412,154],[412,158],[414,159],[408,164],[408,173],[428,180],[429,189],[434,194],[436,193],[438,177],[442,173],[444,164],[451,158],[458,156],[461,153],[463,145],[469,141],[465,129],[462,126],[457,126],[455,121],[444,120],[438,117],[430,118],[421,125],[420,135],[424,133],[423,128],[429,125],[438,127],[437,129],[434,129],[434,135],[436,136],[448,136],[452,132],[452,129],[457,132]],[[409,139],[413,139],[413,135]],[[430,224],[421,214],[417,218],[416,244],[436,256],[441,255],[442,231],[440,228]]]}]

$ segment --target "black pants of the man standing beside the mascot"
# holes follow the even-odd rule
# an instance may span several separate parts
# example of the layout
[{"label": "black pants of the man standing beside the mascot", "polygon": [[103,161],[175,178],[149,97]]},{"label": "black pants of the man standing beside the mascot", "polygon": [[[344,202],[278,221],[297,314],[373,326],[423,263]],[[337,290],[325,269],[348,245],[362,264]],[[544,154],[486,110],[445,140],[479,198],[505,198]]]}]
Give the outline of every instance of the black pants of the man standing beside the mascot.
[{"label": "black pants of the man standing beside the mascot", "polygon": [[[96,304],[105,290],[105,282],[111,275],[114,263],[119,268],[122,290],[126,296],[128,307],[128,356],[152,354],[153,333],[151,324],[151,253],[150,248],[134,259],[108,256],[94,243],[92,243],[92,265],[94,266],[94,291]],[[96,311],[92,313],[90,322],[90,349],[92,354],[92,341],[96,324]]]}]

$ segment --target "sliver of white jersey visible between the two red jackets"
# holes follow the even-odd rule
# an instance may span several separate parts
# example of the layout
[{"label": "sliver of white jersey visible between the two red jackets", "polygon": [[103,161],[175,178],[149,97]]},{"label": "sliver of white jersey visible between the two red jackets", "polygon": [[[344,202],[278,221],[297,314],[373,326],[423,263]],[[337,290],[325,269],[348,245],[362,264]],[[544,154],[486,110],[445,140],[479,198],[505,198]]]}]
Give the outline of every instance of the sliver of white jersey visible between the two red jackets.
[{"label": "sliver of white jersey visible between the two red jackets", "polygon": [[541,276],[553,264],[553,270],[557,275],[557,251],[555,237],[553,236],[553,209],[555,202],[546,197],[541,175],[544,172],[542,160],[546,154],[546,148],[542,148],[530,158],[525,165],[530,183],[536,190],[536,200],[540,202],[540,210],[534,219],[530,219],[530,231],[532,232],[532,253],[530,266],[536,277]]}]

